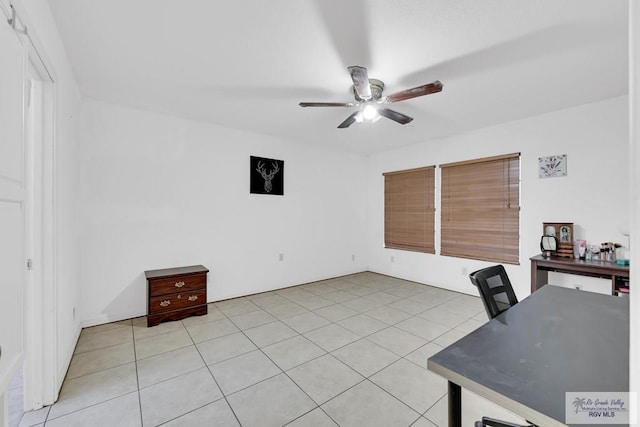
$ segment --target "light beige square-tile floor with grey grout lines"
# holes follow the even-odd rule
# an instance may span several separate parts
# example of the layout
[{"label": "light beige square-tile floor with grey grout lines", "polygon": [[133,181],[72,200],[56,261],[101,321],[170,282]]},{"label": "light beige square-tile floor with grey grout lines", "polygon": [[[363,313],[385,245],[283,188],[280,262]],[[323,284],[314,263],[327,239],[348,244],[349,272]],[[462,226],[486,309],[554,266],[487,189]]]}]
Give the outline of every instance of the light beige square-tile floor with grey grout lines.
[{"label": "light beige square-tile floor with grey grout lines", "polygon": [[427,358],[484,322],[479,298],[366,272],[86,328],[58,402],[20,426],[446,426]]}]

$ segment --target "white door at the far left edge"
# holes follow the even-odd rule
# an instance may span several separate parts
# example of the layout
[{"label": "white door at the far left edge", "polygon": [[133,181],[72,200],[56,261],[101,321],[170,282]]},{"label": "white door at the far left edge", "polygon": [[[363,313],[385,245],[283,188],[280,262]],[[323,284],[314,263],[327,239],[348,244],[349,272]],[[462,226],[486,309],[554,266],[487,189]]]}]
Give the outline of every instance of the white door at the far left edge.
[{"label": "white door at the far left edge", "polygon": [[9,382],[22,366],[24,357],[24,49],[16,32],[6,21],[0,22],[0,397],[3,405],[6,405]]}]

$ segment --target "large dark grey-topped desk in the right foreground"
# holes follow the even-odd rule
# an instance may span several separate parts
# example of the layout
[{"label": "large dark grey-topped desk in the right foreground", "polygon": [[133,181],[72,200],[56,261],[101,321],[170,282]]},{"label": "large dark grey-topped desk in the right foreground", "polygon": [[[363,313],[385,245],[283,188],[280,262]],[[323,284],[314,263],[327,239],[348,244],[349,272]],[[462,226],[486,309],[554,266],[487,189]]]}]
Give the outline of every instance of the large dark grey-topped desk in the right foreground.
[{"label": "large dark grey-topped desk in the right foreground", "polygon": [[558,286],[537,292],[429,358],[449,381],[539,426],[564,426],[565,392],[629,390],[629,299]]}]

